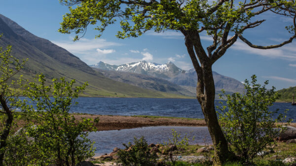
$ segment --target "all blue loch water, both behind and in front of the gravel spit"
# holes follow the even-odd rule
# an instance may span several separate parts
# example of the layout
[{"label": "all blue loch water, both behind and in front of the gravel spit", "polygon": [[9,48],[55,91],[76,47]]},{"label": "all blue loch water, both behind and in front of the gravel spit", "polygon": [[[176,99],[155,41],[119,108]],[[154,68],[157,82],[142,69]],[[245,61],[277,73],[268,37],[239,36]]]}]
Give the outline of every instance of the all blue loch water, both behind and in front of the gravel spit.
[{"label": "all blue loch water, both behind and in front of the gravel spit", "polygon": [[[196,99],[151,99],[151,98],[78,98],[79,104],[72,112],[105,115],[157,115],[204,118]],[[219,102],[216,102],[219,105]],[[289,103],[275,103],[270,110],[288,111],[288,117],[296,119],[296,106]],[[114,147],[123,148],[122,143],[132,142],[134,137],[144,136],[148,143],[163,143],[172,137],[171,129],[184,137],[185,133],[195,137],[190,144],[211,143],[207,127],[145,127],[90,133],[89,138],[96,143],[96,155],[110,153]]]}]

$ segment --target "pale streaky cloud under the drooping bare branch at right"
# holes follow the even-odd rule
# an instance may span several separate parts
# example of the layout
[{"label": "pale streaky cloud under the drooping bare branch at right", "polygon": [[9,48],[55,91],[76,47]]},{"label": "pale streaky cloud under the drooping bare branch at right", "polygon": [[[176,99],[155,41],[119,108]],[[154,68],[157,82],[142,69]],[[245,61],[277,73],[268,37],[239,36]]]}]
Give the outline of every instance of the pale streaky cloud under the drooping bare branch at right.
[{"label": "pale streaky cloud under the drooping bare branch at right", "polygon": [[249,47],[247,44],[245,44],[242,41],[237,41],[234,43],[231,49],[234,50],[242,50],[246,51],[246,53],[255,54],[255,55],[261,55],[261,56],[267,56],[270,58],[281,58],[285,60],[293,60],[296,61],[296,48],[293,45],[286,45],[277,49],[254,49]]}]

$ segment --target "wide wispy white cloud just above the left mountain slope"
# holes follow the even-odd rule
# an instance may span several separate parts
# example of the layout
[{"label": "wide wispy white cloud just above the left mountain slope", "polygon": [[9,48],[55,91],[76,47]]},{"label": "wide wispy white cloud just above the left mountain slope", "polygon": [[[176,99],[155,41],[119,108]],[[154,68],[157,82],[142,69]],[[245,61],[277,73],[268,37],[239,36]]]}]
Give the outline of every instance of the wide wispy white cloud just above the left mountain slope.
[{"label": "wide wispy white cloud just above the left mountain slope", "polygon": [[105,39],[86,39],[81,38],[78,41],[73,42],[69,41],[51,41],[52,43],[68,50],[73,54],[87,54],[90,51],[94,51],[96,49],[104,49],[113,46],[121,46],[120,43],[109,42]]}]

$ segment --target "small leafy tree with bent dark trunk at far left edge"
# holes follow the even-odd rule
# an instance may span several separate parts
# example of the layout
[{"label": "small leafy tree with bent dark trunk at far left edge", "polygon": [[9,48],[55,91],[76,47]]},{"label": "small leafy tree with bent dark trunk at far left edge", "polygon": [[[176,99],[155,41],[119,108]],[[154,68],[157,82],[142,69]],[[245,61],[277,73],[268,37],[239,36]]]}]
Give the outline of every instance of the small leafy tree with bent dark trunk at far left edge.
[{"label": "small leafy tree with bent dark trunk at far left edge", "polygon": [[11,46],[7,46],[6,50],[0,47],[0,166],[4,164],[7,138],[17,118],[14,111],[25,105],[25,102],[18,99],[20,91],[17,85],[21,80],[12,80],[12,77],[23,68],[26,60],[20,62],[10,52]]}]

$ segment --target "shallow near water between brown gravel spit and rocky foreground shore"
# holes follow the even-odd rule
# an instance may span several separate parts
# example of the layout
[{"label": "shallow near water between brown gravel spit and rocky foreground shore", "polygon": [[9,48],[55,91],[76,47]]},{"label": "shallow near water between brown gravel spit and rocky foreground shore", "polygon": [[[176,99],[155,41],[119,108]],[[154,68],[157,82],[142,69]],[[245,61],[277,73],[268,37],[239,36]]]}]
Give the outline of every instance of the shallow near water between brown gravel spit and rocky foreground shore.
[{"label": "shallow near water between brown gravel spit and rocky foreground shore", "polygon": [[[212,139],[210,137],[207,127],[185,127],[185,126],[156,126],[156,127],[144,127],[135,129],[123,129],[123,130],[111,130],[92,132],[89,134],[89,138],[96,143],[96,156],[111,153],[114,147],[123,148],[122,143],[133,142],[134,137],[144,138],[149,143],[163,143],[172,138],[172,131],[174,129],[178,134],[181,134],[181,138],[184,138],[185,133],[188,136],[195,137],[194,140],[190,140],[189,144],[211,144]],[[181,139],[180,139],[181,140]]]}]

